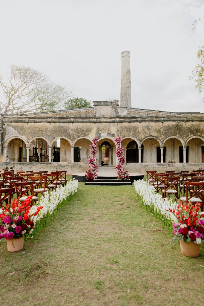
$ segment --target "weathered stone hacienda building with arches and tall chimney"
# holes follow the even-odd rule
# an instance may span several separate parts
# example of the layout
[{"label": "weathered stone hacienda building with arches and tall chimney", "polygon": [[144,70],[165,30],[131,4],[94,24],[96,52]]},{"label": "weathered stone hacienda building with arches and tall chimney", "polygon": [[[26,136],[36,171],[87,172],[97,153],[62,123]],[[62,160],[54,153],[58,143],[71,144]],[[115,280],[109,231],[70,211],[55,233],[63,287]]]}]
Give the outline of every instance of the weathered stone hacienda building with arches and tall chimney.
[{"label": "weathered stone hacienda building with arches and tall chimney", "polygon": [[85,171],[95,136],[99,165],[116,163],[113,140],[121,136],[128,170],[204,168],[204,113],[132,108],[128,51],[121,54],[120,106],[118,101],[94,101],[93,107],[75,110],[1,114],[0,124],[2,168],[8,155],[9,166],[19,169]]}]

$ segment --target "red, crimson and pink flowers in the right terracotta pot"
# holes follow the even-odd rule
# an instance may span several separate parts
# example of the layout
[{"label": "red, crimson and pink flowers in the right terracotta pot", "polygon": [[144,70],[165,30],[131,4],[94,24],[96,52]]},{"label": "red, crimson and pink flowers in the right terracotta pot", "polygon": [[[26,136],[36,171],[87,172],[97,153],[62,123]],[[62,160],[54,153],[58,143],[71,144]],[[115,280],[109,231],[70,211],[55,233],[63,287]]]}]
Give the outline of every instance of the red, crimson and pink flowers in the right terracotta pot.
[{"label": "red, crimson and pink flowers in the right terracotta pot", "polygon": [[178,220],[173,223],[173,240],[184,240],[185,242],[193,241],[196,244],[204,242],[204,212],[201,211],[198,215],[200,204],[189,206],[180,202],[175,209],[167,209]]}]

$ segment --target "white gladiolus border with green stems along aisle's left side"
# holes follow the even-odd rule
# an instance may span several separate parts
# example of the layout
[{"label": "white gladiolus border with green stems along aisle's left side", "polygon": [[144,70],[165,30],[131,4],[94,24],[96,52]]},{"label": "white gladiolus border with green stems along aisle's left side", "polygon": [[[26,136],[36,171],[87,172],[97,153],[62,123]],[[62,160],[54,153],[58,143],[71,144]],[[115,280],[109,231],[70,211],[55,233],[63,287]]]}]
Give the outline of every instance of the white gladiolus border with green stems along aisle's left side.
[{"label": "white gladiolus border with green stems along aisle's left side", "polygon": [[39,211],[38,215],[32,217],[34,227],[30,233],[31,238],[39,229],[49,224],[50,220],[53,218],[53,214],[71,200],[72,196],[77,192],[78,187],[78,180],[70,180],[64,187],[57,187],[56,191],[45,192],[45,196],[42,196],[41,199],[30,208],[29,212],[33,214],[39,206],[43,206],[43,209]]}]

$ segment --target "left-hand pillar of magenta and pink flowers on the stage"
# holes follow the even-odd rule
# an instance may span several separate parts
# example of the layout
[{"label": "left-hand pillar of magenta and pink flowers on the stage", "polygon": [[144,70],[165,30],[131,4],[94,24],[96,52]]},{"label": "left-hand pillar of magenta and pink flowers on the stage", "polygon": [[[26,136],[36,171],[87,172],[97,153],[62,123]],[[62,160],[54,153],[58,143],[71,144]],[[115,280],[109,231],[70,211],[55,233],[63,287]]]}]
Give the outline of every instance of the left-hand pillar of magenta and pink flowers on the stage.
[{"label": "left-hand pillar of magenta and pink flowers on the stage", "polygon": [[90,145],[89,153],[91,154],[91,157],[89,156],[87,159],[87,166],[88,169],[85,174],[85,178],[87,181],[95,181],[98,175],[98,165],[96,163],[96,146],[98,144],[98,138],[95,137],[92,141],[92,144]]}]

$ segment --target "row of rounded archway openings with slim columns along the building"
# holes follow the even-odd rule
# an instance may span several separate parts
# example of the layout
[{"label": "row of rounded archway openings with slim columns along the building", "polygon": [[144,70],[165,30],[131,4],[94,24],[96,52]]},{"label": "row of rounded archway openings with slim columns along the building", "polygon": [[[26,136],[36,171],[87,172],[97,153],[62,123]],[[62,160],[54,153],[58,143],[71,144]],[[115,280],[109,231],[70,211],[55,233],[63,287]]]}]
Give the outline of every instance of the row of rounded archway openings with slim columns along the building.
[{"label": "row of rounded archway openings with slim columns along the building", "polygon": [[[87,162],[91,138],[80,136],[71,141],[65,136],[56,136],[51,141],[44,136],[26,140],[13,136],[4,144],[4,160],[9,156],[13,162]],[[132,136],[121,139],[126,162],[204,162],[204,137],[191,136],[186,141],[178,136],[163,140],[157,136],[146,136],[138,140]],[[98,139],[97,162],[99,165],[116,163],[114,138]]]}]

